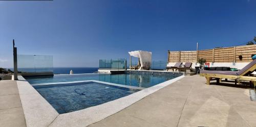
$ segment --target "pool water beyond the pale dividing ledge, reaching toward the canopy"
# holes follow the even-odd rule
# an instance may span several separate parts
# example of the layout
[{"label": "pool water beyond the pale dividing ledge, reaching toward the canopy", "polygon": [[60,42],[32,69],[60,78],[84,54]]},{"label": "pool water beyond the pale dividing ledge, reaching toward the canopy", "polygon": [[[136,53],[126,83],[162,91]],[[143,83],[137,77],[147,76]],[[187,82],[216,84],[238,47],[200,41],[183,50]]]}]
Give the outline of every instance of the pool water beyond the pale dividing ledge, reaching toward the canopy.
[{"label": "pool water beyond the pale dividing ledge, reaching toward the canopy", "polygon": [[182,73],[124,73],[124,74],[55,74],[53,77],[26,77],[31,84],[57,83],[71,81],[97,80],[127,86],[148,88],[159,83],[174,79]]}]

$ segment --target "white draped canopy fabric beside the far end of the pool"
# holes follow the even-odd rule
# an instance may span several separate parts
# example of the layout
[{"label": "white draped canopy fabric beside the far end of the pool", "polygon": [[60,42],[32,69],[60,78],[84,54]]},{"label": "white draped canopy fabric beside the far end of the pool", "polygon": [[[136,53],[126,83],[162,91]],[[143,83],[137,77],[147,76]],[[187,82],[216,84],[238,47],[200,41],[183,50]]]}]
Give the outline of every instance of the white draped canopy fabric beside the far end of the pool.
[{"label": "white draped canopy fabric beside the far end of the pool", "polygon": [[143,50],[135,50],[135,51],[128,52],[128,53],[133,57],[140,58],[141,66],[140,66],[139,70],[143,70],[143,69],[149,70],[150,69],[151,56],[152,56],[151,52],[146,52]]}]

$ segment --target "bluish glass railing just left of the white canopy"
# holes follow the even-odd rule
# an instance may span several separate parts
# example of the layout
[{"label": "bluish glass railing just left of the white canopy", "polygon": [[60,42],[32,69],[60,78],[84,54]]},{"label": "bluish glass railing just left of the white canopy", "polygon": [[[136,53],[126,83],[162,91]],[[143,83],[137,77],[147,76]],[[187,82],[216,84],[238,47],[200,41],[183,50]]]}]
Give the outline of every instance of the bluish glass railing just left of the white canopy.
[{"label": "bluish glass railing just left of the white canopy", "polygon": [[100,59],[99,69],[126,69],[127,60],[121,59]]}]

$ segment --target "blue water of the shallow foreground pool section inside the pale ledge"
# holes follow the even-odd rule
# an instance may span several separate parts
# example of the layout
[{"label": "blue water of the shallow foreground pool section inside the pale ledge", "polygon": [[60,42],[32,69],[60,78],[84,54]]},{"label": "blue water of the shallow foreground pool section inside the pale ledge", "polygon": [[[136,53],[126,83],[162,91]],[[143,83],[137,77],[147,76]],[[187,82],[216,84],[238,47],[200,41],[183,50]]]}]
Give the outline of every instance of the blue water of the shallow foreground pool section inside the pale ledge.
[{"label": "blue water of the shallow foreground pool section inside the pale ledge", "polygon": [[139,90],[96,82],[33,86],[59,113],[69,113],[115,100]]}]

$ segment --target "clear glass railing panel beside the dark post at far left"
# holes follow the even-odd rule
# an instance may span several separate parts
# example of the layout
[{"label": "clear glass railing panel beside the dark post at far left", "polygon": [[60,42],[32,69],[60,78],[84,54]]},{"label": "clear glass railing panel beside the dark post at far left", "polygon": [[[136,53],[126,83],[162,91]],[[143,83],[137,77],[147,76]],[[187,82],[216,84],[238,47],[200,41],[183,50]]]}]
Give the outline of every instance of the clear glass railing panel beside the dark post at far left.
[{"label": "clear glass railing panel beside the dark post at far left", "polygon": [[45,55],[17,55],[19,72],[53,72],[53,57]]}]

